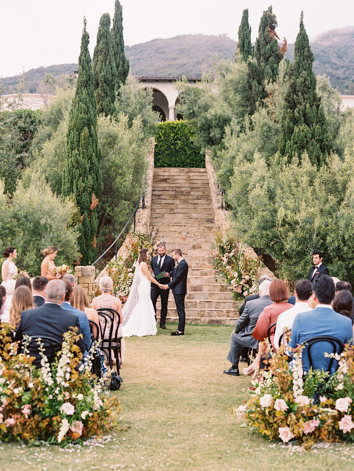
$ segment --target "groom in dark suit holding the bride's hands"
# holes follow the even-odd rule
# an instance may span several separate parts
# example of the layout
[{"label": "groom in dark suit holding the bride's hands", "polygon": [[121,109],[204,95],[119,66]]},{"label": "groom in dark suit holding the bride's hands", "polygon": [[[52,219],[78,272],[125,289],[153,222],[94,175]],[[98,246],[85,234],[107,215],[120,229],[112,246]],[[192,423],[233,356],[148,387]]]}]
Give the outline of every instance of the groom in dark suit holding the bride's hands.
[{"label": "groom in dark suit holding the bride's hands", "polygon": [[182,257],[181,249],[174,249],[172,251],[173,260],[177,262],[177,267],[173,272],[169,273],[172,276],[172,281],[164,285],[164,290],[172,288],[174,302],[178,314],[178,327],[176,332],[171,335],[184,335],[184,325],[186,323],[186,312],[184,310],[184,298],[187,294],[187,276],[188,264]]}]

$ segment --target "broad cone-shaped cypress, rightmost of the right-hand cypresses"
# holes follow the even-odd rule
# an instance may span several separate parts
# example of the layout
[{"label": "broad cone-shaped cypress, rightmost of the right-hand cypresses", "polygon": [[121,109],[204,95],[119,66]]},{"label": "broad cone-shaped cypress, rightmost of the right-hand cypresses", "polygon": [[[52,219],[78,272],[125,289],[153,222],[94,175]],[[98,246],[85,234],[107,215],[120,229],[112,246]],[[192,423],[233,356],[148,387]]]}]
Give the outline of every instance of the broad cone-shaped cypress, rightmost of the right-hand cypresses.
[{"label": "broad cone-shaped cypress, rightmost of the right-hand cypresses", "polygon": [[330,134],[321,97],[316,92],[314,58],[301,12],[294,62],[288,71],[289,88],[284,98],[279,149],[290,158],[295,155],[300,158],[307,151],[311,162],[320,165],[330,151]]}]

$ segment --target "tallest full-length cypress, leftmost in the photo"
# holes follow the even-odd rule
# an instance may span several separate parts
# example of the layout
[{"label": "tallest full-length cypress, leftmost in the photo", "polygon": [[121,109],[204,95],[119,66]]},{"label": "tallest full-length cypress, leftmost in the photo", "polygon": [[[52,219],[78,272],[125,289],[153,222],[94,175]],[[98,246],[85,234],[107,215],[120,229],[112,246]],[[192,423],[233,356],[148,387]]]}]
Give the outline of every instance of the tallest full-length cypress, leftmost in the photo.
[{"label": "tallest full-length cypress, leftmost in the photo", "polygon": [[73,195],[81,214],[79,223],[79,248],[82,263],[94,261],[97,231],[96,195],[102,192],[100,161],[102,152],[98,146],[96,100],[91,57],[88,52],[89,35],[86,18],[81,37],[79,76],[69,112],[66,135],[66,154],[63,171],[63,196]]}]

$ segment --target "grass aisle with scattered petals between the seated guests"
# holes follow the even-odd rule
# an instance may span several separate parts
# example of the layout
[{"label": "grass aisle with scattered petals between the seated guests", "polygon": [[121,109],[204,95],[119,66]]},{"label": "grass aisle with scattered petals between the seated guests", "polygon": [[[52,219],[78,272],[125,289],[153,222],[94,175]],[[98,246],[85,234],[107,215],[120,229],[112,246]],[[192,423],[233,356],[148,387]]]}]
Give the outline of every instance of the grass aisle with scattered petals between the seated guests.
[{"label": "grass aisle with scattered petals between the seated guests", "polygon": [[[1,470],[333,470],[351,469],[354,447],[293,453],[240,427],[228,413],[248,393],[249,378],[228,377],[230,326],[175,325],[156,337],[126,339],[117,392],[120,427],[103,446],[0,445]],[[242,365],[243,367],[244,365]],[[128,428],[130,427],[130,428]],[[126,430],[125,430],[126,429]],[[353,456],[353,457],[352,457]]]}]

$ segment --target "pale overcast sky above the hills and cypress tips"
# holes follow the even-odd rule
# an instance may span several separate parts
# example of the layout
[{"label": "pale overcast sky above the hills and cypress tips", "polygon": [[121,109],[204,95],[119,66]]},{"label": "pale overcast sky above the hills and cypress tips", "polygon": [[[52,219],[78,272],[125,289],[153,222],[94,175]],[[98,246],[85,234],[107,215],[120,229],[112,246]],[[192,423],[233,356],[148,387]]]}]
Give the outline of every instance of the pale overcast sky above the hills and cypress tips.
[{"label": "pale overcast sky above the hills and cypress tips", "polygon": [[[1,4],[5,0],[0,0]],[[124,40],[132,46],[178,34],[222,34],[237,40],[244,8],[249,9],[252,41],[264,9],[273,5],[277,33],[294,42],[299,16],[310,40],[329,29],[354,24],[353,0],[121,0]],[[83,17],[91,57],[102,13],[114,14],[114,0],[12,0],[0,9],[0,76],[52,64],[78,62]]]}]

